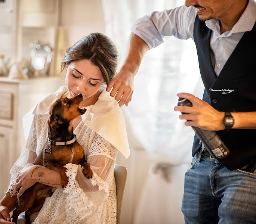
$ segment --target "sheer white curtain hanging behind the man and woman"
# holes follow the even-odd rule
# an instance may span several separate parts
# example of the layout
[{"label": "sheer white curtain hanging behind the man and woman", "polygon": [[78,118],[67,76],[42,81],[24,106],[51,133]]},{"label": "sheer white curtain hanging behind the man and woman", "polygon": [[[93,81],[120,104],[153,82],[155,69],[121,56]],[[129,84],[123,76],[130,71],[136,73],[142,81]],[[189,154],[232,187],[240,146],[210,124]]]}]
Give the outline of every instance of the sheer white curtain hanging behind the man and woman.
[{"label": "sheer white curtain hanging behind the man and woman", "polygon": [[[102,0],[105,31],[117,44],[120,65],[126,56],[127,41],[136,19],[182,4],[183,0]],[[201,98],[203,89],[195,44],[191,39],[165,37],[163,44],[146,53],[135,77],[132,102],[125,110],[133,135],[155,161],[136,207],[135,223],[183,223],[180,212],[183,175],[191,161],[194,132],[178,119],[179,112],[173,108],[178,102],[178,92]],[[153,172],[161,163],[170,166],[173,177],[170,182],[164,178],[160,181],[160,173],[157,176]],[[153,202],[148,195],[156,193]],[[178,203],[172,203],[172,199]]]}]

